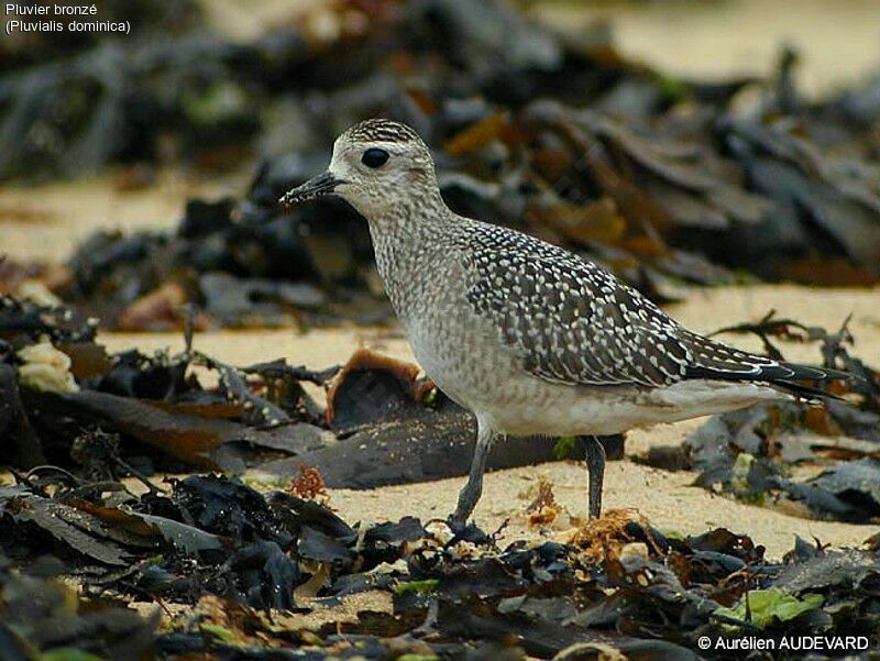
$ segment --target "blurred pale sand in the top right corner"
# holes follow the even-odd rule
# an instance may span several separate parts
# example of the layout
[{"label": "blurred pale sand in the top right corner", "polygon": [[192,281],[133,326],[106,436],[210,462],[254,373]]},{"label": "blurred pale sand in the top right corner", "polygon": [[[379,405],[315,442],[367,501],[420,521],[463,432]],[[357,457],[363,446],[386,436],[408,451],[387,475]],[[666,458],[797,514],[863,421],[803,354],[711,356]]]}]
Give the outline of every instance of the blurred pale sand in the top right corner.
[{"label": "blurred pale sand in the top right corner", "polygon": [[670,75],[772,75],[782,44],[801,54],[795,79],[809,95],[831,93],[880,67],[876,0],[553,0],[535,8],[561,31],[608,20],[623,53]]}]

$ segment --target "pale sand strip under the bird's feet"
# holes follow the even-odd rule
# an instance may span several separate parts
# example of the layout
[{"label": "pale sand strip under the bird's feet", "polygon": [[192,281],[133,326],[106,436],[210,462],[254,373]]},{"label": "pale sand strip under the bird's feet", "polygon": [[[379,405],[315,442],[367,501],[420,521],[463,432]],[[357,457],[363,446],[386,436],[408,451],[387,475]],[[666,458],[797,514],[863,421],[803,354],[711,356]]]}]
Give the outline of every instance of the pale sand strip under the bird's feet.
[{"label": "pale sand strip under the bird's feet", "polygon": [[[678,443],[682,436],[683,429],[674,426],[654,431],[650,441]],[[557,503],[574,516],[585,515],[586,470],[580,463],[551,463],[490,473],[474,518],[487,531],[508,521],[501,537],[502,544],[518,539],[568,541],[570,538],[568,517],[554,522],[550,530],[529,528],[526,524],[524,510],[534,497],[530,487],[537,484],[540,475],[552,484]],[[748,535],[756,544],[766,547],[768,558],[774,559],[792,549],[795,535],[811,541],[815,537],[835,547],[855,547],[880,530],[878,526],[811,521],[744,505],[690,486],[693,478],[694,475],[688,472],[667,473],[630,461],[609,462],[605,474],[604,510],[635,509],[661,530],[675,530],[683,535],[728,528]],[[395,520],[404,515],[444,518],[454,508],[458,491],[463,484],[464,478],[383,487],[372,492],[338,489],[332,492],[330,505],[349,521]]]}]

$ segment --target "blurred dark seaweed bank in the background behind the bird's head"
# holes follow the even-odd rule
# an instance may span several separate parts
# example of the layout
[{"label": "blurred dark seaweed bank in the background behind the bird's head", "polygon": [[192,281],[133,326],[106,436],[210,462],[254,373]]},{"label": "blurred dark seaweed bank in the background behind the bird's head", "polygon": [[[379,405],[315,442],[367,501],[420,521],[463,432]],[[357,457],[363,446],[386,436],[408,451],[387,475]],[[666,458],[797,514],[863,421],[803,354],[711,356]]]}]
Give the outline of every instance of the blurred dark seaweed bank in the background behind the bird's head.
[{"label": "blurred dark seaweed bank in the background behind the bird's head", "polygon": [[[175,235],[87,242],[58,287],[66,300],[128,329],[179,326],[169,310],[182,300],[224,326],[288,323],[292,312],[383,319],[387,308],[359,296],[378,287],[356,214],[328,200],[276,206],[326,165],[339,132],[375,115],[425,136],[454,210],[564,244],[657,300],[744,273],[880,278],[877,80],[807,101],[791,53],[771,80],[673,79],[627,62],[607,35],[560,36],[502,2],[339,0],[324,11],[332,37],[302,18],[252,44],[108,42],[0,78],[0,104],[14,110],[0,176],[156,162],[168,143],[173,161],[261,163],[242,199],[194,201]],[[92,87],[103,93],[57,117],[57,90]],[[46,135],[33,129],[47,122],[81,131],[18,139]]]}]

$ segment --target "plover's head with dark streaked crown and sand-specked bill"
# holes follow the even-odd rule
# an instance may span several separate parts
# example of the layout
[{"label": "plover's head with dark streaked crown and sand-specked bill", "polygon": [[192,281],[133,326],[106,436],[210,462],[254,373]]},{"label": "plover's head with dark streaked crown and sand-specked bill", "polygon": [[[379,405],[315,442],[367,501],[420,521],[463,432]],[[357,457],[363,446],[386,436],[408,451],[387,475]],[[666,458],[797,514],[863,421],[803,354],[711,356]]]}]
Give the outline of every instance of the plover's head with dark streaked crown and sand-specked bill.
[{"label": "plover's head with dark streaked crown and sand-specked bill", "polygon": [[337,139],[327,172],[279,201],[289,206],[324,195],[341,197],[367,220],[410,201],[435,201],[431,152],[406,124],[385,119],[355,124]]}]

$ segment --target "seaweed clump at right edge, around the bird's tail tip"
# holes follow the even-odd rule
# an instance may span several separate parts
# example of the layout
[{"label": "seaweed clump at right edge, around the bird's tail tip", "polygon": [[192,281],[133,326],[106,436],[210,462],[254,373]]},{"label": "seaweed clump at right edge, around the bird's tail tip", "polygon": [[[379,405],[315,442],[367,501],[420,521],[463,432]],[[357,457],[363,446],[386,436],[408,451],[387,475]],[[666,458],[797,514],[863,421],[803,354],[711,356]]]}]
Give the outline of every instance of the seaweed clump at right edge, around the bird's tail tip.
[{"label": "seaweed clump at right edge, around the bird's tail tip", "polygon": [[717,331],[755,333],[778,359],[777,340],[817,344],[825,366],[846,370],[853,378],[835,385],[822,406],[780,401],[714,416],[680,449],[654,449],[641,461],[693,470],[697,485],[748,503],[823,519],[876,521],[880,373],[851,354],[847,322],[828,332],[771,310],[757,322]]}]

